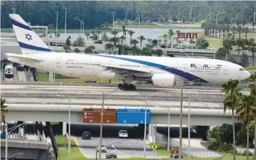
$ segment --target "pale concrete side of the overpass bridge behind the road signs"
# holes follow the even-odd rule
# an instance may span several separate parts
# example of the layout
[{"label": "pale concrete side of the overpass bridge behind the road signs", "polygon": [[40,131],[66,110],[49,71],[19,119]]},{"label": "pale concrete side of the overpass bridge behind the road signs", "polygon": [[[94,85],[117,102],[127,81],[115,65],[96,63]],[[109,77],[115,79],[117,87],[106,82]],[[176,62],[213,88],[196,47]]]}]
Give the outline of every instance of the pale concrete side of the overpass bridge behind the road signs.
[{"label": "pale concrete side of the overpass bridge behind the road signs", "polygon": [[[83,123],[83,109],[101,109],[101,105],[70,105],[71,123]],[[104,106],[105,109],[144,109],[141,107]],[[151,124],[168,124],[168,109],[151,107]],[[69,105],[43,105],[43,104],[8,104],[6,121],[69,121]],[[170,108],[170,124],[180,124],[180,108]],[[183,124],[187,125],[188,109],[183,109]],[[195,126],[221,126],[223,123],[232,123],[230,110],[223,109],[190,109],[190,125]],[[235,121],[239,118],[235,116]]]}]

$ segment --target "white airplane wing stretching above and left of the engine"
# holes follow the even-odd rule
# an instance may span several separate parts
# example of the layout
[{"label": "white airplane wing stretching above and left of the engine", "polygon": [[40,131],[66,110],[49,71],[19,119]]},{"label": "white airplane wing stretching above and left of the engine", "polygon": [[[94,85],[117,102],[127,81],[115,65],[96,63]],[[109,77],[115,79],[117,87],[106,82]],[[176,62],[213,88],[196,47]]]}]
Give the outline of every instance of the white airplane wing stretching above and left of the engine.
[{"label": "white airplane wing stretching above and left of the engine", "polygon": [[106,67],[106,70],[112,70],[112,72],[144,72],[144,73],[150,73],[149,70],[146,68],[136,67],[136,68],[128,68],[128,67],[122,67],[118,65],[100,65],[102,67]]}]

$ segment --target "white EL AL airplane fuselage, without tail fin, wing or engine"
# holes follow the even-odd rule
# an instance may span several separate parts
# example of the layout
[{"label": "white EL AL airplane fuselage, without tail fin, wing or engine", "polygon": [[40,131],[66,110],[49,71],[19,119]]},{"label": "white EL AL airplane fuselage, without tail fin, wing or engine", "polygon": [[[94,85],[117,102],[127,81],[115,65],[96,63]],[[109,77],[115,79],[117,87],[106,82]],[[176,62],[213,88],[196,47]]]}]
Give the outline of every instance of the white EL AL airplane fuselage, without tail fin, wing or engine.
[{"label": "white EL AL airplane fuselage, without tail fin, wing or engine", "polygon": [[[16,57],[9,57],[13,62],[35,67],[48,72],[56,72],[72,77],[100,77],[125,80],[127,74],[107,70],[105,65],[121,67],[123,70],[135,70],[135,80],[148,80],[151,75],[164,73],[175,75],[175,80],[225,83],[232,80],[244,80],[248,77],[239,65],[223,60],[144,57],[127,55],[85,55],[75,53],[37,53],[30,57],[40,59],[34,62]],[[136,72],[136,70],[145,72]]]}]

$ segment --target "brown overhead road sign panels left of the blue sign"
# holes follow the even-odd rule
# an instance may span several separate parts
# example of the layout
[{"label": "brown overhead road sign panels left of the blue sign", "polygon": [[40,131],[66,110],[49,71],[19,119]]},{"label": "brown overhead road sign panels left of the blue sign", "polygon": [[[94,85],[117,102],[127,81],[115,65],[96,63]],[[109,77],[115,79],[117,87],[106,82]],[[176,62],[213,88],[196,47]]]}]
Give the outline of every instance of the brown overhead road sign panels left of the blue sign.
[{"label": "brown overhead road sign panels left of the blue sign", "polygon": [[[101,109],[83,109],[83,123],[100,123]],[[116,110],[103,110],[103,123],[116,123]]]}]

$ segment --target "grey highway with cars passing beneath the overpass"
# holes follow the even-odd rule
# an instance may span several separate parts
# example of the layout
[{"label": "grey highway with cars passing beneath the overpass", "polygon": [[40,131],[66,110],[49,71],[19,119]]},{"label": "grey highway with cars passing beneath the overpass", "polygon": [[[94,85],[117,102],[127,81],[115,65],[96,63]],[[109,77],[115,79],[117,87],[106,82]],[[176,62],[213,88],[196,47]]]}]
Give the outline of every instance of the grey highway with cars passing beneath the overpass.
[{"label": "grey highway with cars passing beneath the overpass", "polygon": [[[88,158],[95,158],[96,146],[100,143],[99,125],[86,125],[83,126],[84,131],[90,131],[92,133],[91,140],[83,140],[81,136],[76,136],[79,145]],[[128,138],[118,138],[118,131],[125,129],[128,131]],[[139,135],[139,129],[133,126],[104,126],[102,133],[102,144],[107,146],[107,152],[115,153],[118,158],[130,158],[130,157],[143,157],[144,156],[144,140]],[[143,131],[141,132],[143,133]],[[102,153],[102,158],[105,158],[105,153]],[[149,146],[146,146],[146,158],[162,158],[154,154]]]}]

